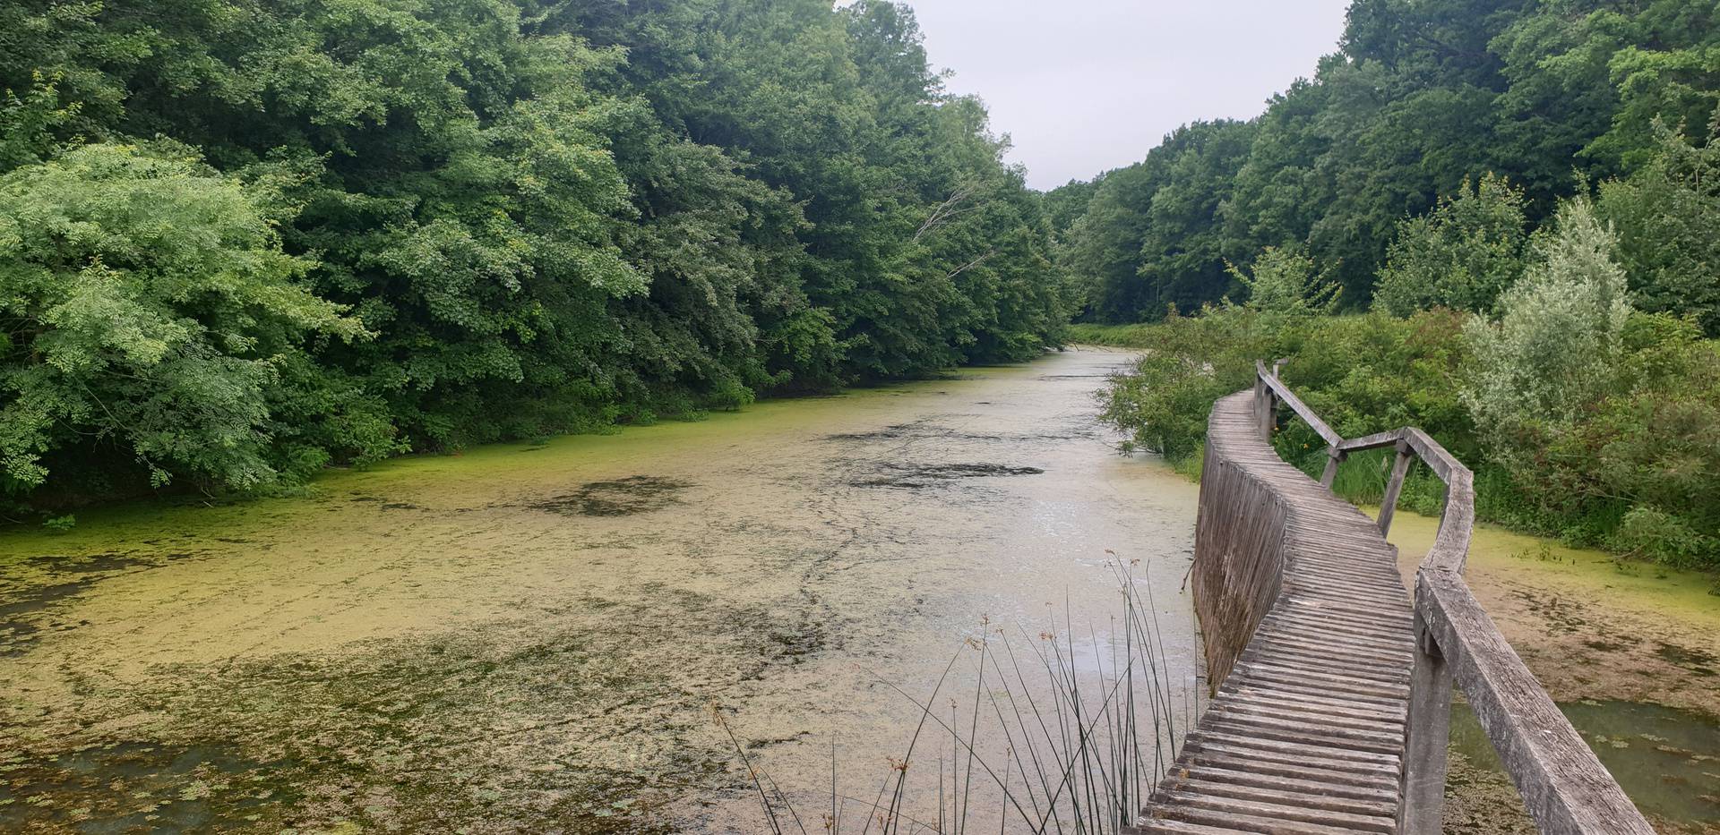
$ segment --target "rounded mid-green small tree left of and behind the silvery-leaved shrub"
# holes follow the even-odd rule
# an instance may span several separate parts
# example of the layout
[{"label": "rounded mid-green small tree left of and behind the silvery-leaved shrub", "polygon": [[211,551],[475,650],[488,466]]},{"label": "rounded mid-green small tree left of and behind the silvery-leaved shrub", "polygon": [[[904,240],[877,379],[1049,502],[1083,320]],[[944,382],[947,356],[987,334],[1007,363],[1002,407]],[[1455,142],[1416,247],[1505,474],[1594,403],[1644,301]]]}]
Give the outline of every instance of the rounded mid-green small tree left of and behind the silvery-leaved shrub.
[{"label": "rounded mid-green small tree left of and behind the silvery-leaved shrub", "polygon": [[1374,306],[1397,316],[1429,308],[1486,313],[1524,266],[1524,194],[1503,177],[1464,182],[1455,198],[1398,223]]}]

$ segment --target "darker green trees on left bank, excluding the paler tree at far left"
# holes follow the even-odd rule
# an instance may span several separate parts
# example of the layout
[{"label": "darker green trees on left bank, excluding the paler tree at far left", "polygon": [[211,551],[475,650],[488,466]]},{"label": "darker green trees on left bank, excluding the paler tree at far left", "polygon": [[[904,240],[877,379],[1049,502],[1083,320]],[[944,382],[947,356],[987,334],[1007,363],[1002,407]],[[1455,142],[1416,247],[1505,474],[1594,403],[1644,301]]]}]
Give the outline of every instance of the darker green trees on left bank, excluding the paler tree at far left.
[{"label": "darker green trees on left bank, excluding the paler tree at far left", "polygon": [[270,354],[227,412],[256,476],[200,476],[230,488],[1025,359],[1068,318],[1042,201],[905,5],[29,0],[0,91],[0,172],[182,143],[366,333]]}]

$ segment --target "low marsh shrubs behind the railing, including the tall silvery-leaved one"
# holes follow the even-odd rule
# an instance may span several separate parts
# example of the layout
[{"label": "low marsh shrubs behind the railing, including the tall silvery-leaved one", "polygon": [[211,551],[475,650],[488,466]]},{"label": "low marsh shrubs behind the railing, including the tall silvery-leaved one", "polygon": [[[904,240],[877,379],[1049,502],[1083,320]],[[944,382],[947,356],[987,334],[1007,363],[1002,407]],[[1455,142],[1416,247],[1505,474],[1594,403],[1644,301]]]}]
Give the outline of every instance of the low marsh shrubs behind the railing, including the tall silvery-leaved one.
[{"label": "low marsh shrubs behind the railing, including the tall silvery-leaved one", "polygon": [[[1125,450],[1192,469],[1213,400],[1252,383],[1261,357],[1340,435],[1421,426],[1476,471],[1481,519],[1686,567],[1720,565],[1720,342],[1692,320],[1634,313],[1612,235],[1584,201],[1531,246],[1527,277],[1493,323],[1452,309],[1395,318],[1269,316],[1242,306],[1078,342],[1146,349],[1103,395]],[[1278,452],[1309,474],[1326,460],[1281,416]],[[1357,455],[1335,490],[1378,502],[1385,459]],[[1441,485],[1412,476],[1407,507],[1436,512]]]}]

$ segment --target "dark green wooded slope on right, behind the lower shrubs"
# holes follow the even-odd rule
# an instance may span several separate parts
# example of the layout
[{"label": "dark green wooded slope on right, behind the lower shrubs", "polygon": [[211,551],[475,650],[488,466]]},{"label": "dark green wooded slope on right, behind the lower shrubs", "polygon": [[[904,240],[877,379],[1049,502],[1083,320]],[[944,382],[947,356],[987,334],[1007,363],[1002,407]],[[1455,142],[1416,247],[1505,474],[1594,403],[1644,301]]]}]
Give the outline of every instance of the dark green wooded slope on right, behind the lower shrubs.
[{"label": "dark green wooded slope on right, behind the lower shrubs", "polygon": [[[1362,309],[1381,270],[1421,270],[1407,218],[1491,282],[1562,198],[1601,186],[1636,302],[1720,332],[1713,182],[1694,174],[1720,103],[1720,9],[1696,0],[1357,0],[1340,50],[1249,122],[1197,122],[1146,160],[1051,192],[1082,318],[1154,321],[1247,289],[1288,249]],[[1462,215],[1462,216],[1457,216]],[[1479,235],[1462,239],[1462,235]],[[1426,237],[1426,235],[1424,235]],[[1421,258],[1421,261],[1417,261]],[[1484,292],[1483,296],[1486,296]],[[1417,301],[1474,304],[1436,296]]]}]

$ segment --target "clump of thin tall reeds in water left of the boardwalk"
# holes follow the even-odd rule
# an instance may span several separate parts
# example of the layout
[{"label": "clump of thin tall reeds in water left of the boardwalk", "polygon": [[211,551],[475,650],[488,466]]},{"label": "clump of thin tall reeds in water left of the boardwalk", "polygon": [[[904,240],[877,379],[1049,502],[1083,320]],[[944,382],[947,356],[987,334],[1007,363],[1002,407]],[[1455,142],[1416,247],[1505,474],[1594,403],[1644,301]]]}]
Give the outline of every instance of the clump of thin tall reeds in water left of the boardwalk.
[{"label": "clump of thin tall reeds in water left of the boardwalk", "polygon": [[[1199,694],[1170,686],[1151,582],[1133,564],[1109,567],[1121,612],[1103,636],[1078,629],[1065,606],[1046,627],[982,622],[922,696],[879,677],[918,710],[913,734],[869,797],[839,790],[832,742],[829,809],[817,818],[795,808],[716,711],[771,832],[1121,833],[1170,768]],[[956,670],[970,673],[970,692],[949,692]],[[927,759],[936,789],[912,778]]]}]

